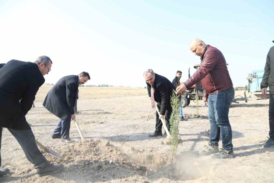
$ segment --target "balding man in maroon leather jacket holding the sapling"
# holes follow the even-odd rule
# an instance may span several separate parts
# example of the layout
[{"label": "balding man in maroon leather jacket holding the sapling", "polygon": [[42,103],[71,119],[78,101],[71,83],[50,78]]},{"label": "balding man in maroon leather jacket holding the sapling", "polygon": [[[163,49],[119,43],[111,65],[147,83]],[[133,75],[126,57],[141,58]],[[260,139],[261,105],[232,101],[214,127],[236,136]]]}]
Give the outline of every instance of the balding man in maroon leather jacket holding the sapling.
[{"label": "balding man in maroon leather jacket holding the sapling", "polygon": [[[234,157],[232,130],[228,120],[229,106],[234,99],[234,88],[227,70],[226,60],[217,48],[206,45],[200,39],[193,39],[189,45],[191,52],[201,57],[200,68],[184,83],[176,88],[177,94],[186,91],[198,81],[202,81],[203,101],[208,102],[210,121],[209,145],[199,151],[201,156],[214,154],[215,158]],[[218,142],[222,132],[223,149]]]}]

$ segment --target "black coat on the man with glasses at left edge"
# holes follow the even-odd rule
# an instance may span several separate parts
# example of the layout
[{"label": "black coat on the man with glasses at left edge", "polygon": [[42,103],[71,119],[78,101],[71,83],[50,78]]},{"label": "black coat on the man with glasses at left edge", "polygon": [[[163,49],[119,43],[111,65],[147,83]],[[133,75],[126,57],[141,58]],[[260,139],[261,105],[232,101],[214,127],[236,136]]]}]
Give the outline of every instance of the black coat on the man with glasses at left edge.
[{"label": "black coat on the man with glasses at left edge", "polygon": [[45,79],[36,63],[11,60],[0,66],[0,126],[30,130],[25,115]]}]

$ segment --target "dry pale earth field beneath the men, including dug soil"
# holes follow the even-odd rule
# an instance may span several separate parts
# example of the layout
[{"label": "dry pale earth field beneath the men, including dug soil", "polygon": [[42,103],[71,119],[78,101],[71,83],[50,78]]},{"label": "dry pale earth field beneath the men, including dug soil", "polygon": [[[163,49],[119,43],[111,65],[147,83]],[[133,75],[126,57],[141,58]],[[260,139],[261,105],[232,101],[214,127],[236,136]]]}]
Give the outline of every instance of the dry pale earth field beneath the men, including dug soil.
[{"label": "dry pale earth field beneath the men, including dug soil", "polygon": [[[155,112],[146,89],[79,88],[80,114],[76,120],[86,139],[80,141],[72,121],[70,137],[76,143],[68,145],[51,138],[58,117],[42,106],[50,88],[40,88],[36,108],[26,118],[38,141],[68,157],[61,161],[43,152],[51,163],[64,163],[64,170],[36,178],[33,165],[4,128],[2,168],[8,167],[11,174],[0,178],[0,182],[273,182],[274,148],[262,148],[269,132],[269,100],[256,100],[251,95],[248,103],[231,105],[229,119],[236,157],[229,160],[198,156],[209,140],[208,108],[200,101],[199,113],[203,117],[196,117],[195,103],[191,101],[183,109],[188,121],[180,122],[182,143],[173,165],[175,170],[171,171],[170,146],[160,144],[162,137],[148,137],[155,129]],[[243,96],[243,92],[236,95]]]}]

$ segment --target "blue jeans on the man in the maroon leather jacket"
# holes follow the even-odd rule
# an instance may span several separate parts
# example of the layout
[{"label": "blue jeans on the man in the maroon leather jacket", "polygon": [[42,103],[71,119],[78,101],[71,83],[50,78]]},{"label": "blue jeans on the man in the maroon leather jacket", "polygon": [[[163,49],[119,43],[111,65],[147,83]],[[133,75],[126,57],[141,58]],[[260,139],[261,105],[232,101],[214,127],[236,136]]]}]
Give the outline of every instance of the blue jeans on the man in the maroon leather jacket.
[{"label": "blue jeans on the man in the maroon leather jacket", "polygon": [[233,151],[232,130],[228,120],[229,107],[234,99],[234,88],[228,88],[209,95],[208,119],[210,121],[210,142],[218,146],[220,132],[222,133],[223,148]]}]

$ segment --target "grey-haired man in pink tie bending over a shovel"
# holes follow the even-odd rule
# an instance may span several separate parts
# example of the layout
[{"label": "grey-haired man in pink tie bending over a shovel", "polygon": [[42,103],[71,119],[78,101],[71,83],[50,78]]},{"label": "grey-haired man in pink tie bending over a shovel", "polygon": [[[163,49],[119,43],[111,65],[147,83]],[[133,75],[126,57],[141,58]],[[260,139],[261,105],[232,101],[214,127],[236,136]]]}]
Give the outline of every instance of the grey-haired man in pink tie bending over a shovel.
[{"label": "grey-haired man in pink tie bending over a shovel", "polygon": [[[151,98],[152,109],[155,110],[155,102],[160,111],[160,115],[156,111],[156,130],[149,137],[162,136],[162,123],[161,118],[166,120],[166,126],[169,131],[170,124],[169,119],[172,113],[172,107],[170,104],[170,98],[172,91],[176,88],[173,84],[165,77],[155,74],[152,69],[148,69],[143,73],[146,80],[148,95]],[[164,136],[166,135],[166,132]]]}]

